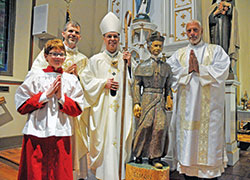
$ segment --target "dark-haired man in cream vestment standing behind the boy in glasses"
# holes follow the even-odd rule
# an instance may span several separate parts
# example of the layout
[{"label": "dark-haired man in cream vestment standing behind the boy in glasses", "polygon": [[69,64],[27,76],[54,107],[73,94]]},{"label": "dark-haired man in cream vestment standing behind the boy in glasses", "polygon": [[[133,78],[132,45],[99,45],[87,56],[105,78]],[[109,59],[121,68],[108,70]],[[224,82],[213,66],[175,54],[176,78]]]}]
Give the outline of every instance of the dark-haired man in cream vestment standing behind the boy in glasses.
[{"label": "dark-haired man in cream vestment standing behind the boy in glasses", "polygon": [[[85,68],[88,58],[79,52],[77,43],[81,39],[81,26],[78,22],[71,20],[68,21],[62,32],[64,38],[63,44],[66,49],[66,59],[62,65],[65,72],[74,74],[78,77],[78,73]],[[48,66],[48,62],[44,57],[44,49],[34,60],[31,70],[41,70]],[[86,114],[86,112],[84,112]],[[87,151],[88,143],[84,139],[86,125],[82,123],[82,114],[74,118],[74,128],[72,136],[72,155],[73,155],[73,168],[75,170],[74,179],[86,179],[88,168],[87,168]],[[78,161],[80,160],[80,161]]]}]

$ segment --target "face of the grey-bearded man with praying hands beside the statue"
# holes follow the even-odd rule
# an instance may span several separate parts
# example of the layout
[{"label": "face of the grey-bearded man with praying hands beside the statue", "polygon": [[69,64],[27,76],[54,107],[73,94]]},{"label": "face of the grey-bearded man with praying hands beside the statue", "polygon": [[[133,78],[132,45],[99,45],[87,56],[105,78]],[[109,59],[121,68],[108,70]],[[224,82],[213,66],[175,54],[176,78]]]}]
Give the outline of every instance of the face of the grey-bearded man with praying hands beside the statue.
[{"label": "face of the grey-bearded man with praying hands beside the statue", "polygon": [[192,45],[197,45],[201,41],[203,30],[198,22],[193,21],[187,24],[186,33],[189,42]]}]

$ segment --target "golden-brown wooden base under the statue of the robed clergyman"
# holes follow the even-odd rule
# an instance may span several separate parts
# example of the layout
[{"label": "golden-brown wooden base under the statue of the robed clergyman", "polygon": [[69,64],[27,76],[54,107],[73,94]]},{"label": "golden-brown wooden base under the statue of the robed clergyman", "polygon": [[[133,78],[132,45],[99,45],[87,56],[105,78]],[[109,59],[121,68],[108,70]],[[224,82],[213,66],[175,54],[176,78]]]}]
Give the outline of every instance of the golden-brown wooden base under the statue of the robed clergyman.
[{"label": "golden-brown wooden base under the statue of the robed clergyman", "polygon": [[156,169],[149,164],[126,164],[126,180],[169,180],[169,166]]}]

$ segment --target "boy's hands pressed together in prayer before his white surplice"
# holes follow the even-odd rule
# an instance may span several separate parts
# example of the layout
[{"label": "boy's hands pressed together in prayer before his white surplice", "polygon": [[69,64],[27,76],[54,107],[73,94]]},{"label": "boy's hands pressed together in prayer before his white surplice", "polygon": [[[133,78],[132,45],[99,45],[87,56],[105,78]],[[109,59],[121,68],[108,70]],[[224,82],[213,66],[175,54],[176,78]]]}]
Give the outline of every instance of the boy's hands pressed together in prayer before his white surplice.
[{"label": "boy's hands pressed together in prayer before his white surplice", "polygon": [[51,98],[54,94],[57,99],[61,99],[61,75],[56,77],[55,81],[50,85],[46,92],[47,98]]}]

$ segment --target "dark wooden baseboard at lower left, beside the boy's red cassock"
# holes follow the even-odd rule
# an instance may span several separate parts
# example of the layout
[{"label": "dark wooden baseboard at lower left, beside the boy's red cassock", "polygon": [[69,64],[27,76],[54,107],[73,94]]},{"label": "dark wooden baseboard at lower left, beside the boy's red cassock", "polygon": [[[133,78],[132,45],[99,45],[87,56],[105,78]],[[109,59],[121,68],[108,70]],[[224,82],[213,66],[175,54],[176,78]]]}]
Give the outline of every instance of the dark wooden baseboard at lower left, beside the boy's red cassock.
[{"label": "dark wooden baseboard at lower left, beside the boy's red cassock", "polygon": [[0,138],[0,151],[22,146],[23,135]]}]

